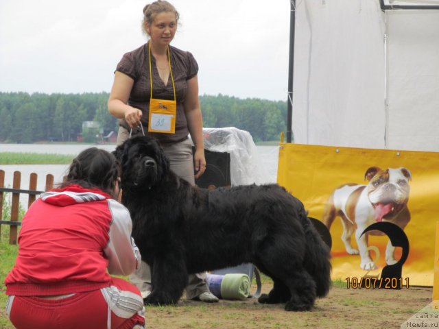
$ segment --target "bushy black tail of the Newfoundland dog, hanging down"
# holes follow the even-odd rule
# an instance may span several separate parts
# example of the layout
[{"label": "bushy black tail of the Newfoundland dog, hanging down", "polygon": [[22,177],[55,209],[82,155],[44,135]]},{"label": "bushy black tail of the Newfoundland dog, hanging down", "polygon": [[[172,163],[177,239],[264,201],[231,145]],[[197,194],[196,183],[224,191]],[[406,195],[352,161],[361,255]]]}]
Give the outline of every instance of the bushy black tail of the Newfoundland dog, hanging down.
[{"label": "bushy black tail of the Newfoundland dog, hanging down", "polygon": [[331,252],[320,234],[308,219],[305,209],[300,213],[304,223],[307,247],[305,251],[305,269],[316,282],[316,295],[324,297],[331,287]]}]

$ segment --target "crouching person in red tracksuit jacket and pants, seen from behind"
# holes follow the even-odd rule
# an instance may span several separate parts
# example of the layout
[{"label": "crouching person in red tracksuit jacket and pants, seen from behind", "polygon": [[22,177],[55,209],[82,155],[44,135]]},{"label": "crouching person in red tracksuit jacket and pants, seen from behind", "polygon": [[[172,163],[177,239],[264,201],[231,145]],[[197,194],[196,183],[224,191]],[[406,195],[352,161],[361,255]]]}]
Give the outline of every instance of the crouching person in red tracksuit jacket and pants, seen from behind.
[{"label": "crouching person in red tracksuit jacket and pants, seen from behind", "polygon": [[112,154],[86,149],[66,182],[27,210],[5,279],[16,328],[143,328],[139,289],[110,276],[128,276],[141,263],[130,213],[116,201],[118,178]]}]

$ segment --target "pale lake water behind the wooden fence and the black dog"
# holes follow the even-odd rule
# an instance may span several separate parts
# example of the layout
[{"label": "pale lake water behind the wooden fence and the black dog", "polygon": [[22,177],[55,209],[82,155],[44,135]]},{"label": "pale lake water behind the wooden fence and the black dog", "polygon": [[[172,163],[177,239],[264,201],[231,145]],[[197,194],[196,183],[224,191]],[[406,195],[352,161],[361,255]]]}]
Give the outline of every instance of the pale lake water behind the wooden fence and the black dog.
[{"label": "pale lake water behind the wooden fence and the black dog", "polygon": [[[79,154],[88,147],[98,147],[113,151],[114,144],[104,145],[62,145],[62,144],[0,144],[0,152],[38,153],[38,154]],[[255,182],[259,184],[273,183],[277,180],[278,146],[257,146],[254,152],[257,165],[253,170],[257,172]],[[54,184],[62,181],[66,174],[68,164],[11,164],[0,165],[0,170],[5,171],[5,186],[12,187],[14,171],[21,171],[21,188],[29,188],[30,173],[38,174],[37,189],[44,191],[45,176],[54,175]],[[233,170],[233,169],[232,169]],[[22,204],[27,204],[27,196],[21,195]]]}]

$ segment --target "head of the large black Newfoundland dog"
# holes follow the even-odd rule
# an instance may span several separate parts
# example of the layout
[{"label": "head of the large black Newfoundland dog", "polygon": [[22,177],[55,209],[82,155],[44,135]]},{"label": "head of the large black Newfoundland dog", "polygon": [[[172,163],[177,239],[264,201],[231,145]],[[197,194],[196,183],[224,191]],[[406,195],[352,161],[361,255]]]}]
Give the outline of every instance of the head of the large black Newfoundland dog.
[{"label": "head of the large black Newfoundland dog", "polygon": [[113,151],[121,163],[123,191],[145,191],[169,172],[169,160],[150,136],[130,138]]}]

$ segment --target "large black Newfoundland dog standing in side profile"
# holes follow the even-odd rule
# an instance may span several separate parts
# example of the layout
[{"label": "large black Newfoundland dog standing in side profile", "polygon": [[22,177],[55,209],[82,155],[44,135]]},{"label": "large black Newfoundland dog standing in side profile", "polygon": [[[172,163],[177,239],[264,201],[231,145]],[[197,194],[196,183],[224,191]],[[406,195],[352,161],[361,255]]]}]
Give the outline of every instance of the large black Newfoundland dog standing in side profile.
[{"label": "large black Newfoundland dog standing in side profile", "polygon": [[169,169],[154,138],[131,138],[114,151],[132,235],[151,266],[145,304],[176,304],[188,274],[253,263],[274,281],[260,303],[309,310],[331,284],[329,247],[302,203],[276,185],[207,190]]}]

